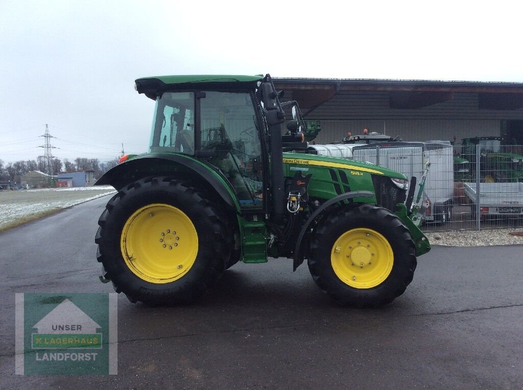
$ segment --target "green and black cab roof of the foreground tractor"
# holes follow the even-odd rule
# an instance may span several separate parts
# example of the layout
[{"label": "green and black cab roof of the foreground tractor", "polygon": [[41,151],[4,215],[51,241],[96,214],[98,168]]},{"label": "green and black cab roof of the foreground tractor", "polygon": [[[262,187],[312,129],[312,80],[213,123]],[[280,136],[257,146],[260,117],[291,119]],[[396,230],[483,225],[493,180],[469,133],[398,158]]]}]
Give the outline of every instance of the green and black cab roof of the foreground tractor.
[{"label": "green and black cab roof of the foreground tractor", "polygon": [[152,76],[136,79],[135,89],[139,94],[145,94],[151,99],[155,99],[158,93],[169,89],[187,88],[192,84],[214,84],[220,83],[240,86],[263,80],[264,75],[171,75],[171,76]]}]

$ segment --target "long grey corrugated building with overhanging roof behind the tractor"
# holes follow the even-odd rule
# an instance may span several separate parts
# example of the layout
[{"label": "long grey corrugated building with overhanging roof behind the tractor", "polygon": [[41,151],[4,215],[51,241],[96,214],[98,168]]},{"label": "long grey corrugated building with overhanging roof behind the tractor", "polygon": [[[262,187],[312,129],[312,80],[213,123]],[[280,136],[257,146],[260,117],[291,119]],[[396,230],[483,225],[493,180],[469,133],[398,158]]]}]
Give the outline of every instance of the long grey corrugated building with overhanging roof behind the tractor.
[{"label": "long grey corrugated building with overhanging roof behind the tractor", "polygon": [[305,119],[321,121],[318,144],[363,128],[405,141],[501,135],[523,144],[523,83],[275,78],[275,86]]}]

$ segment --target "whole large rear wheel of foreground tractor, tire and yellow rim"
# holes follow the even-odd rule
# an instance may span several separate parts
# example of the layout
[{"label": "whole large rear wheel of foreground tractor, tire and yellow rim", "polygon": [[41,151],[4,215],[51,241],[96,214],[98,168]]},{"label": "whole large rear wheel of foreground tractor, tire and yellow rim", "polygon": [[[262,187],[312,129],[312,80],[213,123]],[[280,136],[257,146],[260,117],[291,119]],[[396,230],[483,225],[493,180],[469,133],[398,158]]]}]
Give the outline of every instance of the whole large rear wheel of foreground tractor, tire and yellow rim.
[{"label": "whole large rear wheel of foreground tractor, tire and yellow rim", "polygon": [[228,265],[232,234],[223,221],[201,191],[167,177],[141,179],[107,203],[97,258],[132,302],[190,302]]}]

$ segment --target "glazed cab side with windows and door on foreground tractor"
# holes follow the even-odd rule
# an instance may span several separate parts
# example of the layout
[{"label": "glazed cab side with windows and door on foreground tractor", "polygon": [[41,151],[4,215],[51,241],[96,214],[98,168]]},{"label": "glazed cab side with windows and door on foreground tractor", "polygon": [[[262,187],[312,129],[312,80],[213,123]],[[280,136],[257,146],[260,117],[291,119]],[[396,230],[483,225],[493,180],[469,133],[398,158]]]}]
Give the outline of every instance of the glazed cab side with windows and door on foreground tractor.
[{"label": "glazed cab side with windows and door on foreground tractor", "polygon": [[265,161],[253,98],[241,90],[163,93],[149,153],[200,158],[228,180],[242,208],[261,208]]}]

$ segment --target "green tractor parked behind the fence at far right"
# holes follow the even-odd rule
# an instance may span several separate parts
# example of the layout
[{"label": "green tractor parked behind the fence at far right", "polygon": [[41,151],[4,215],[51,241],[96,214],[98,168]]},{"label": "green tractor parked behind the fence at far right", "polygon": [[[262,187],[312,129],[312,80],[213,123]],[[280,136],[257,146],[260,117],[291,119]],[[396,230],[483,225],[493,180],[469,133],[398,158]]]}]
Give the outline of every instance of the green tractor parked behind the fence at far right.
[{"label": "green tractor parked behind the fence at far right", "polygon": [[[471,176],[476,170],[476,145],[480,145],[480,179],[484,182],[523,181],[523,156],[502,152],[502,137],[464,138],[461,158],[469,160]],[[506,146],[505,146],[506,147]]]}]

